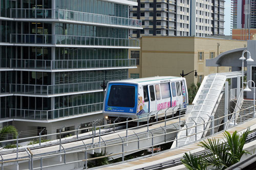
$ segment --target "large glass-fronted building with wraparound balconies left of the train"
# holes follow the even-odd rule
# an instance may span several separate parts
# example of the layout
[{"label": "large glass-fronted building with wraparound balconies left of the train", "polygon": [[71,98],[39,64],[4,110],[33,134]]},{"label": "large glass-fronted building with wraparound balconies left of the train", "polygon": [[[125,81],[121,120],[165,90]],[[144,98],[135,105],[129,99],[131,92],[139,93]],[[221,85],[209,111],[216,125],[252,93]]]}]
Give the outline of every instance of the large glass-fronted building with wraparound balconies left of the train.
[{"label": "large glass-fronted building with wraparound balconies left of the train", "polygon": [[[127,79],[135,59],[129,19],[135,0],[1,0],[0,123],[18,130],[93,122],[102,110],[103,80]],[[71,127],[68,127],[71,126]]]}]

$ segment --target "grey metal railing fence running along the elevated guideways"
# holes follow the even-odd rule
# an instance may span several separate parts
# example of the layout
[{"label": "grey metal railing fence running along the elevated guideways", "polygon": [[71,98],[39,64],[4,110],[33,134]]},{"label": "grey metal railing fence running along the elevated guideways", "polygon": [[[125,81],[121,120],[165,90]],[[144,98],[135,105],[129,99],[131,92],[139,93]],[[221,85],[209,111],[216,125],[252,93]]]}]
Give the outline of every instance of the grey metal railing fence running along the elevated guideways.
[{"label": "grey metal railing fence running along the elevated guideways", "polygon": [[[211,119],[209,122],[204,122],[203,124],[196,124],[196,126],[193,126],[193,127],[191,127],[191,128],[195,128],[195,129],[197,129],[197,127],[198,126],[204,126],[204,127],[207,127],[207,124],[210,124],[210,128],[208,128],[208,129],[204,129],[204,131],[210,131],[210,134],[211,135],[213,135],[214,134],[214,129],[215,128],[218,128],[218,127],[220,127],[220,126],[224,126],[225,127],[225,124],[227,124],[228,122],[236,122],[236,120],[237,120],[237,118],[236,118],[236,116],[232,116],[232,115],[234,115],[234,114],[239,114],[240,115],[240,117],[238,117],[240,120],[241,120],[241,122],[242,122],[242,120],[244,119],[244,121],[246,121],[246,119],[245,119],[245,116],[246,115],[248,115],[248,114],[252,114],[253,112],[250,112],[250,108],[253,108],[254,106],[252,106],[252,107],[249,107],[249,108],[246,108],[246,109],[244,109],[244,110],[241,110],[240,112],[237,112],[237,113],[230,113],[230,114],[228,114],[228,115],[224,115],[224,116],[222,116],[222,117],[219,117],[219,118],[216,118],[216,119]],[[246,114],[245,113],[245,110],[249,110],[249,113],[248,114]],[[251,110],[253,110],[253,109],[251,109]],[[244,115],[242,114],[243,113],[243,111],[244,111]],[[176,112],[176,111],[172,111],[173,112],[173,114],[174,114],[174,112]],[[180,112],[179,112],[180,113]],[[18,162],[18,161],[22,161],[22,160],[28,160],[28,168],[29,169],[41,169],[41,168],[49,168],[49,167],[55,167],[55,166],[58,166],[58,165],[63,165],[63,163],[59,163],[59,164],[54,164],[54,165],[48,165],[48,166],[43,166],[42,164],[40,164],[40,167],[37,167],[37,168],[33,168],[33,159],[44,159],[44,158],[50,158],[50,157],[53,157],[53,156],[61,156],[61,157],[63,157],[64,158],[64,164],[72,164],[72,163],[78,163],[78,162],[85,162],[85,164],[86,164],[86,167],[85,168],[87,168],[87,163],[88,163],[88,161],[91,161],[91,160],[96,160],[96,159],[99,159],[99,158],[104,158],[104,157],[111,157],[111,156],[114,156],[114,155],[121,155],[121,157],[122,157],[122,161],[124,161],[124,154],[127,154],[127,153],[132,153],[132,152],[136,152],[136,151],[140,151],[140,150],[143,150],[143,149],[147,149],[148,147],[145,147],[145,148],[141,148],[140,147],[140,142],[142,142],[142,140],[145,140],[145,139],[148,139],[148,140],[150,140],[150,141],[152,141],[152,144],[151,144],[151,148],[152,148],[152,154],[154,153],[154,150],[153,150],[153,148],[156,146],[156,145],[160,145],[160,144],[164,144],[164,143],[166,143],[166,142],[174,142],[174,144],[176,144],[176,147],[177,147],[177,144],[178,144],[178,140],[177,140],[177,136],[178,136],[178,133],[180,132],[180,131],[189,131],[189,130],[191,130],[191,128],[183,128],[183,129],[180,129],[180,130],[178,130],[178,128],[177,128],[177,130],[176,131],[173,131],[173,132],[166,132],[165,131],[165,128],[166,128],[166,121],[168,121],[168,120],[170,120],[170,119],[174,119],[174,118],[177,118],[177,117],[171,117],[171,118],[166,118],[166,112],[165,113],[161,113],[161,114],[164,114],[165,116],[165,119],[164,120],[159,120],[158,119],[158,116],[160,116],[160,114],[159,115],[154,115],[155,117],[156,117],[156,122],[155,123],[160,123],[160,122],[164,122],[165,123],[165,127],[163,127],[162,128],[162,130],[164,131],[164,133],[163,134],[157,134],[157,135],[154,135],[151,131],[150,131],[150,129],[148,128],[148,126],[150,126],[150,125],[152,125],[152,124],[155,124],[155,123],[150,123],[150,124],[148,124],[148,121],[149,121],[149,119],[150,119],[150,114],[148,114],[148,116],[146,117],[146,119],[147,119],[147,124],[146,125],[142,125],[141,127],[147,127],[147,131],[145,132],[145,133],[147,133],[147,136],[145,137],[145,138],[142,138],[142,139],[140,139],[138,136],[137,136],[137,134],[134,134],[134,136],[136,136],[137,137],[137,139],[135,139],[135,140],[130,140],[130,141],[128,141],[127,140],[127,135],[125,136],[125,137],[120,137],[120,139],[121,139],[121,142],[119,142],[119,143],[115,143],[115,144],[107,144],[102,138],[101,138],[101,130],[102,130],[102,128],[104,128],[105,127],[105,125],[104,126],[93,126],[93,127],[91,127],[91,128],[83,128],[83,129],[77,129],[77,130],[74,130],[73,132],[77,132],[77,134],[78,134],[78,131],[79,130],[85,130],[85,129],[91,129],[92,130],[92,135],[91,135],[91,140],[92,140],[92,143],[90,143],[90,144],[84,144],[84,145],[82,145],[81,147],[78,147],[78,148],[76,148],[76,151],[69,151],[68,153],[67,153],[67,149],[64,149],[63,147],[62,147],[62,145],[61,145],[61,138],[59,139],[59,153],[52,153],[52,154],[47,154],[47,155],[33,155],[33,153],[31,152],[31,151],[29,151],[29,148],[28,149],[26,149],[26,151],[28,150],[28,156],[27,156],[27,158],[23,158],[23,159],[18,159],[18,151],[19,151],[19,149],[18,149],[18,147],[17,147],[17,149],[16,149],[16,152],[17,152],[17,157],[15,158],[15,159],[12,159],[12,160],[2,160],[0,163],[2,163],[2,168],[3,168],[3,164],[4,163],[7,163],[7,162]],[[181,117],[182,115],[179,115],[179,118]],[[214,125],[214,122],[215,122],[215,120],[217,120],[217,119],[223,119],[225,116],[227,116],[227,117],[233,117],[232,119],[230,118],[230,119],[228,119],[228,121],[227,122],[224,122],[223,124],[220,124],[220,125]],[[143,119],[145,119],[145,118],[143,118]],[[133,120],[128,120],[128,119],[126,119],[126,127],[127,127],[127,124],[129,123],[129,122],[132,122]],[[139,122],[139,120],[137,119],[137,121]],[[177,123],[181,123],[180,121],[177,121]],[[123,123],[114,123],[113,125],[111,125],[111,126],[117,126],[117,125],[119,125],[119,124],[123,124]],[[139,124],[138,124],[139,125]],[[109,126],[109,125],[107,125],[107,126]],[[175,125],[174,125],[175,126]],[[186,125],[185,125],[186,126]],[[96,133],[96,128],[98,128],[99,129],[99,132],[98,133]],[[137,127],[135,127],[135,128],[137,128]],[[122,131],[126,131],[126,134],[127,134],[127,131],[128,130],[132,130],[132,129],[134,129],[134,128],[126,128],[126,129],[124,129],[124,130],[122,130]],[[69,132],[61,132],[60,131],[60,133],[59,134],[62,134],[62,133],[70,133],[70,132],[72,132],[72,131],[69,131]],[[112,133],[112,132],[111,132]],[[156,137],[164,137],[164,136],[166,136],[167,134],[172,134],[172,133],[174,133],[174,134],[176,134],[176,139],[173,139],[173,140],[169,140],[169,141],[164,141],[164,142],[162,142],[162,143],[154,143],[154,139],[156,138]],[[201,133],[201,132],[199,132],[199,133]],[[50,135],[57,135],[58,133],[55,133],[55,134],[50,134]],[[108,133],[106,133],[106,134],[108,134]],[[187,133],[188,134],[188,133]],[[49,135],[41,135],[41,136],[39,136],[39,137],[46,137],[46,136],[49,136]],[[131,136],[131,135],[130,135]],[[194,134],[191,134],[190,136],[195,136],[195,141],[197,141],[197,131],[196,131],[196,133],[194,133]],[[95,143],[94,142],[94,138],[95,137],[98,137],[99,138],[99,142],[97,142],[97,143]],[[187,137],[187,136],[186,136]],[[26,138],[26,139],[32,139],[32,138],[37,138],[37,137],[30,137],[30,138]],[[79,139],[79,137],[78,137],[78,135],[77,135],[77,139]],[[25,138],[23,138],[23,139],[13,139],[13,140],[6,140],[6,141],[2,141],[2,142],[11,142],[11,141],[16,141],[16,143],[18,143],[18,141],[20,141],[20,140],[25,140]],[[180,139],[179,139],[180,140]],[[137,149],[135,149],[135,150],[129,150],[129,151],[124,151],[124,145],[126,145],[126,144],[128,144],[128,143],[132,143],[132,142],[137,142],[138,143],[138,148]],[[98,147],[95,147],[95,146],[98,146]],[[94,151],[94,150],[97,150],[97,149],[106,149],[106,148],[108,148],[108,147],[113,147],[113,146],[121,146],[121,148],[122,148],[122,151],[120,151],[119,153],[115,153],[115,154],[109,154],[109,155],[105,155],[105,156],[101,156],[101,157],[97,157],[97,158],[88,158],[88,152],[89,151]],[[18,146],[18,145],[17,145]],[[89,148],[90,147],[90,148]],[[78,153],[78,152],[82,152],[82,153],[84,153],[84,159],[82,159],[82,160],[77,160],[77,161],[72,161],[72,162],[67,162],[66,161],[66,155],[67,154],[72,154],[72,153]],[[1,154],[1,153],[0,153]],[[1,156],[1,155],[0,155]]]}]

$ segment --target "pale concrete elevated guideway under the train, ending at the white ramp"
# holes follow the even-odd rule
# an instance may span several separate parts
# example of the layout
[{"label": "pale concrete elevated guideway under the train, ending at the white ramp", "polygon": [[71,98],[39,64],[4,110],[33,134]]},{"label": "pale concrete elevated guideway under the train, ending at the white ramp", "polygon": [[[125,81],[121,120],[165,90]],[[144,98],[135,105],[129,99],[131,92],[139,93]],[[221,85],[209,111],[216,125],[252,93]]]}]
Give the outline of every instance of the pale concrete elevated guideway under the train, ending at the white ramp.
[{"label": "pale concrete elevated guideway under the train, ending at the white ramp", "polygon": [[[151,125],[146,124],[105,135],[99,135],[99,130],[96,130],[100,126],[94,127],[96,133],[89,139],[75,140],[76,137],[73,137],[73,142],[33,150],[29,150],[31,146],[20,147],[21,151],[17,153],[0,153],[0,166],[4,169],[77,169],[84,167],[91,154],[101,151],[111,154],[114,159],[123,158],[125,155],[151,148],[152,144],[157,145],[174,139],[177,136],[175,131],[184,126],[185,116],[157,120]],[[157,136],[159,134],[161,136]],[[153,136],[154,140],[151,140]]]}]

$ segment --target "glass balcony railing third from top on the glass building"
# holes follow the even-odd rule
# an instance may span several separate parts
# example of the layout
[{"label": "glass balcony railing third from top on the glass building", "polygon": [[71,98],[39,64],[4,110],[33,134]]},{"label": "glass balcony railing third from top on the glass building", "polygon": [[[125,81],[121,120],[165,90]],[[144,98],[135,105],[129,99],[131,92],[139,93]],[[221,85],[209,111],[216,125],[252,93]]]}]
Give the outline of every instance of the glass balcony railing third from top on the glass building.
[{"label": "glass balcony railing third from top on the glass building", "polygon": [[10,59],[11,68],[19,69],[91,69],[136,66],[136,59],[105,59],[105,60],[27,60]]}]

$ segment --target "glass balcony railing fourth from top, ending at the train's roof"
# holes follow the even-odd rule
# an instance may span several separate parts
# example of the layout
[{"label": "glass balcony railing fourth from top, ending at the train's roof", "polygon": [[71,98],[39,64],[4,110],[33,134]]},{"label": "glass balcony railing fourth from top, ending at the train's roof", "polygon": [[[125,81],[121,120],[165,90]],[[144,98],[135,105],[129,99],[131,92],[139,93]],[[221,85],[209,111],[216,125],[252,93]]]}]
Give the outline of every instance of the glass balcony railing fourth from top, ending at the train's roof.
[{"label": "glass balcony railing fourth from top, ending at the train's roof", "polygon": [[[109,81],[106,81],[106,83],[108,82]],[[18,94],[53,95],[53,94],[102,90],[102,87],[100,86],[100,84],[102,84],[102,81],[88,82],[88,83],[58,84],[58,85],[10,84],[10,89],[11,89],[11,93],[18,93]]]}]

